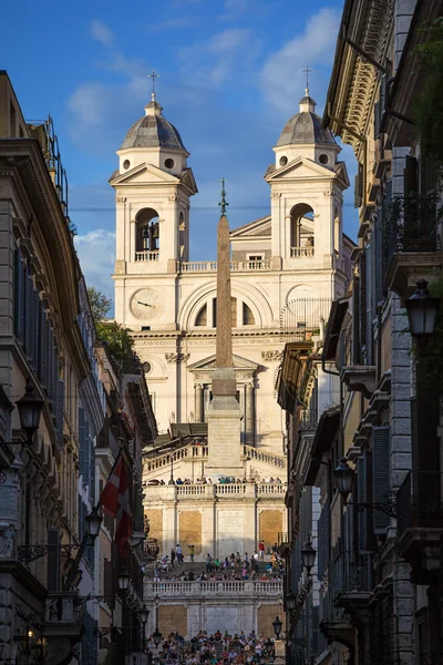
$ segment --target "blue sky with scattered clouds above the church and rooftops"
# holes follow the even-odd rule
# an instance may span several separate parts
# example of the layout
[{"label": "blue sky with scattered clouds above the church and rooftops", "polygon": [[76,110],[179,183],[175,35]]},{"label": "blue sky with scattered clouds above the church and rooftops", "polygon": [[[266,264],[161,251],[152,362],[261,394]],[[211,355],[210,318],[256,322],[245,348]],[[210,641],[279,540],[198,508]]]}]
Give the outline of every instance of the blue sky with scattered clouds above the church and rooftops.
[{"label": "blue sky with scattered clouds above the church and rooftops", "polygon": [[[220,178],[229,223],[269,212],[262,176],[285,122],[298,111],[303,68],[322,113],[342,1],[25,0],[2,12],[0,69],[8,70],[27,120],[50,112],[70,183],[70,213],[89,284],[109,295],[114,260],[115,150],[150,100],[157,100],[190,152],[199,194],[192,200],[192,258],[215,257]],[[18,20],[18,12],[21,17]],[[351,176],[352,151],[341,158]],[[357,214],[348,191],[344,231]]]}]

